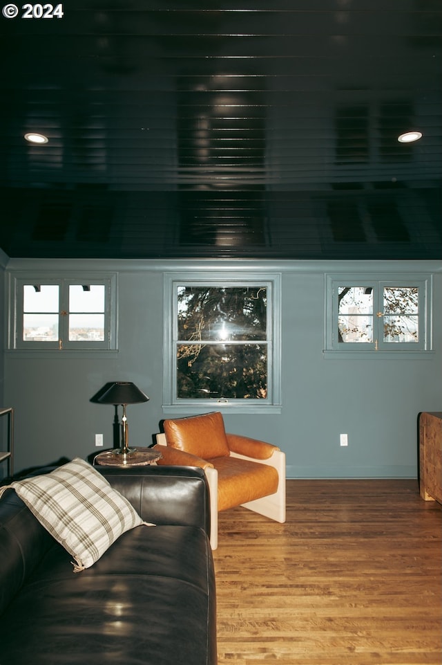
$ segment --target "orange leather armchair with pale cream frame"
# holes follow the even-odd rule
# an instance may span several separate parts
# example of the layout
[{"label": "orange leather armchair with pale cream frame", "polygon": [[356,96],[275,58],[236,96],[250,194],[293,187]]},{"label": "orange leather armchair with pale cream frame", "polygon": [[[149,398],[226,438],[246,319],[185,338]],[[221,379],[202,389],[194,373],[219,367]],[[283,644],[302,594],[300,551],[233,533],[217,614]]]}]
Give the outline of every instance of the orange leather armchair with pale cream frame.
[{"label": "orange leather armchair with pale cream frame", "polygon": [[164,420],[158,464],[204,468],[211,495],[211,547],[218,547],[218,511],[236,506],[285,522],[285,454],[224,430],[219,411]]}]

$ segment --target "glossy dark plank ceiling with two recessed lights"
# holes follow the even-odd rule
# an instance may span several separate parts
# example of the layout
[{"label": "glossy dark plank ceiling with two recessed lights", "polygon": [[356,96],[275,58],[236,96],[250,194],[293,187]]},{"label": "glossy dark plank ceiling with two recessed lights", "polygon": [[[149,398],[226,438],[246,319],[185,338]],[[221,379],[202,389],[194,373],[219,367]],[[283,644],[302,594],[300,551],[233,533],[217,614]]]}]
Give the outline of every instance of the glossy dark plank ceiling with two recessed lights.
[{"label": "glossy dark plank ceiling with two recessed lights", "polygon": [[0,19],[10,257],[442,257],[440,0],[63,10]]}]

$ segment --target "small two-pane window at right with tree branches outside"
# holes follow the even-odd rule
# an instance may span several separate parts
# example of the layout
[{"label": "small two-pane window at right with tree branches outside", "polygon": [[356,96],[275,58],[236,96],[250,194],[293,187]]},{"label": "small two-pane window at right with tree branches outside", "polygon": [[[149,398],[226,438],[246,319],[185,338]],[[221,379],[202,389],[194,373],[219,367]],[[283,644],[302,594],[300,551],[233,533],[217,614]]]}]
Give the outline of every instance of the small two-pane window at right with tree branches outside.
[{"label": "small two-pane window at right with tree branches outside", "polygon": [[329,280],[327,348],[427,349],[426,300],[426,280]]}]

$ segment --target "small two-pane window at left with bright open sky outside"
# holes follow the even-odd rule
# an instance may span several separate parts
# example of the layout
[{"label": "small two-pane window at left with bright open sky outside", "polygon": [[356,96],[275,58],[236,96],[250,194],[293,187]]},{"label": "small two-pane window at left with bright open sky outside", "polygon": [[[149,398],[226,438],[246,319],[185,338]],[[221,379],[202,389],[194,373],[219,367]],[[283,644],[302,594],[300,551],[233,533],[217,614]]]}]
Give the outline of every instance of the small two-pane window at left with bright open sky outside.
[{"label": "small two-pane window at left with bright open sky outside", "polygon": [[105,280],[17,280],[17,349],[111,349],[115,288]]}]

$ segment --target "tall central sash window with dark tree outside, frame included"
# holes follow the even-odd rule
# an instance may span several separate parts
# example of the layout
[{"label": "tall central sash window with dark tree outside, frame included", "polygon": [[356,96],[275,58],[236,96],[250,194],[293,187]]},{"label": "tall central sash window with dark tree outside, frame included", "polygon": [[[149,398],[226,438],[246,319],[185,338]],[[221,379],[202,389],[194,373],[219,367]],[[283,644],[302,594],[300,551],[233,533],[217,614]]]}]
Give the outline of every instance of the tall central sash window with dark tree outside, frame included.
[{"label": "tall central sash window with dark tree outside, frame included", "polygon": [[165,401],[218,408],[279,400],[274,280],[173,280],[169,289]]}]

